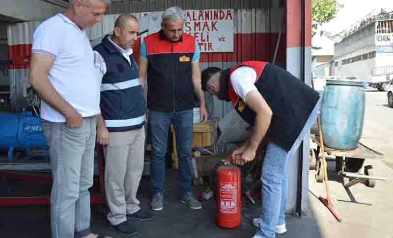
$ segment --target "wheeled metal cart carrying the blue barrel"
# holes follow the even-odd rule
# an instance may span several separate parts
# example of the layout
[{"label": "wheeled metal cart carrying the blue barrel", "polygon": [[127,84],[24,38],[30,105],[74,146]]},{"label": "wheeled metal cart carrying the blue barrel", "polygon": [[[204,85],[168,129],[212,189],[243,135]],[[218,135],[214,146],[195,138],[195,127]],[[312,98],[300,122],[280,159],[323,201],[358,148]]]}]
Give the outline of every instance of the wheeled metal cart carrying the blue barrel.
[{"label": "wheeled metal cart carrying the blue barrel", "polygon": [[[323,182],[324,170],[322,166],[322,159],[319,159],[320,140],[319,136],[311,135],[311,140],[317,145],[317,149],[310,150],[310,169],[316,170],[315,179],[317,182]],[[336,171],[338,175],[342,176],[342,184],[344,187],[350,187],[362,182],[368,187],[375,187],[377,180],[385,181],[386,178],[374,176],[375,170],[372,165],[364,166],[364,173],[362,167],[365,159],[380,159],[383,154],[365,146],[358,144],[354,150],[336,150],[325,146],[325,153],[336,158]],[[350,178],[353,180],[349,181]]]}]

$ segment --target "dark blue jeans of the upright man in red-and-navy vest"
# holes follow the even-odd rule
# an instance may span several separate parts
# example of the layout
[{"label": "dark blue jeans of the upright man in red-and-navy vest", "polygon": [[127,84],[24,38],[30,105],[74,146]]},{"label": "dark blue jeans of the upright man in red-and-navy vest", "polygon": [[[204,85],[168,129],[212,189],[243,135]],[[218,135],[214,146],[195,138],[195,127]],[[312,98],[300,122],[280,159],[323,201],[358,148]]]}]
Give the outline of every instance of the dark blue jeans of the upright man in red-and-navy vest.
[{"label": "dark blue jeans of the upright man in red-and-navy vest", "polygon": [[168,131],[172,123],[176,135],[176,150],[179,157],[181,198],[192,194],[191,145],[193,143],[193,110],[162,112],[149,111],[149,133],[153,152],[150,179],[153,193],[165,194],[165,154],[168,146]]}]

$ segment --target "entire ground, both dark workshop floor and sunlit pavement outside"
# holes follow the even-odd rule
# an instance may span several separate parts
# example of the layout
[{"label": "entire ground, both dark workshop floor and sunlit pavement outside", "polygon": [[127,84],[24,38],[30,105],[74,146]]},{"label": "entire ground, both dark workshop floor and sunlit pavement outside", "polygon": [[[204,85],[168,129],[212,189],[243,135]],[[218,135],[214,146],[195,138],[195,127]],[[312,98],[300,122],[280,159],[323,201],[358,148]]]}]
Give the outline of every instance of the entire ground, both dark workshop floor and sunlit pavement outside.
[{"label": "entire ground, both dark workshop floor and sunlit pavement outside", "polygon": [[[336,175],[334,161],[328,162],[331,196],[337,211],[342,216],[338,223],[331,213],[319,202],[319,195],[326,196],[325,187],[316,183],[314,171],[309,173],[309,212],[302,218],[288,215],[288,232],[282,238],[393,238],[393,108],[388,108],[385,92],[366,93],[365,128],[362,142],[383,153],[382,160],[366,160],[372,164],[376,176],[388,180],[377,182],[375,188],[358,184],[344,189],[341,178]],[[11,191],[9,191],[11,189]],[[204,187],[196,187],[199,194]],[[39,182],[0,182],[0,196],[28,193],[48,193],[49,187]],[[136,222],[139,235],[148,238],[251,238],[255,232],[251,224],[253,216],[258,215],[260,205],[245,205],[243,221],[233,230],[221,229],[215,223],[215,204],[210,199],[203,202],[200,211],[190,211],[179,202],[178,174],[167,170],[167,198],[163,212],[156,212],[156,218],[149,222]],[[143,178],[139,199],[147,208],[150,198],[150,183]],[[109,228],[105,218],[106,209],[94,205],[91,227],[113,238],[121,238]],[[49,238],[50,217],[48,206],[24,206],[0,208],[0,238]]]}]

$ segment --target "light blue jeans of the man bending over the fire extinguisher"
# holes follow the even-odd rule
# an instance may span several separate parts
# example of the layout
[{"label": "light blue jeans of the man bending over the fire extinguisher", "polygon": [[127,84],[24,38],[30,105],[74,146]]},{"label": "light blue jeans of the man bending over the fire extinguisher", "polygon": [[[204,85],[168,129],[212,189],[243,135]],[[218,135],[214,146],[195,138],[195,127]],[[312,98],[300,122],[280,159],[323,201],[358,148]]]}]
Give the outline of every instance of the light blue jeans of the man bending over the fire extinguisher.
[{"label": "light blue jeans of the man bending over the fire extinguisher", "polygon": [[276,237],[276,225],[282,225],[285,222],[288,196],[287,163],[297,152],[303,139],[309,135],[309,130],[318,116],[320,101],[314,107],[306,125],[290,151],[282,149],[271,141],[267,145],[266,155],[262,164],[262,213],[260,215],[259,229],[256,233],[257,237]]}]

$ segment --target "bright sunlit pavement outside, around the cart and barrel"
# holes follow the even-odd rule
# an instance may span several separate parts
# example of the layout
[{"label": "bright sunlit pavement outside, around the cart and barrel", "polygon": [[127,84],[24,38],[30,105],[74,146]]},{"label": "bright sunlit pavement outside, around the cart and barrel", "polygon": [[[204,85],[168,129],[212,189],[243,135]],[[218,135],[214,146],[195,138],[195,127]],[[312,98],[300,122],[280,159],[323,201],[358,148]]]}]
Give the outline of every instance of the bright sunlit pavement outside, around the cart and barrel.
[{"label": "bright sunlit pavement outside, around the cart and barrel", "polygon": [[388,180],[377,182],[374,188],[358,184],[345,189],[336,175],[335,162],[328,162],[333,202],[343,219],[337,223],[314,196],[326,196],[326,191],[323,184],[315,182],[315,173],[310,171],[310,209],[323,238],[393,238],[393,108],[387,106],[386,92],[366,92],[361,141],[384,154],[382,160],[366,160],[365,165],[373,165],[376,176]]}]

